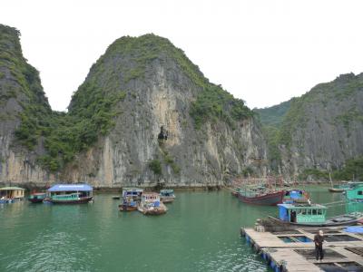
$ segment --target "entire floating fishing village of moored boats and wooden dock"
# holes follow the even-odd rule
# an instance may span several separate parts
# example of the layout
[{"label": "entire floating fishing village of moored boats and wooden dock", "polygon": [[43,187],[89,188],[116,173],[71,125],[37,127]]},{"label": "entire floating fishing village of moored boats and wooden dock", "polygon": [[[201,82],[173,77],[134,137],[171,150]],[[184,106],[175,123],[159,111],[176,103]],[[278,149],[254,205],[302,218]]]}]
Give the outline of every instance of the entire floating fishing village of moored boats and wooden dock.
[{"label": "entire floating fishing village of moored boats and wooden dock", "polygon": [[[233,180],[231,198],[244,205],[274,206],[275,214],[257,219],[253,228],[241,227],[244,243],[253,248],[274,271],[363,271],[363,182],[350,181],[326,188],[340,200],[315,203],[305,186],[273,179]],[[159,192],[142,188],[123,188],[113,195],[120,212],[139,211],[143,215],[162,215],[165,204],[178,201],[173,189]],[[11,205],[25,200],[25,189],[0,189],[0,203]],[[44,204],[86,204],[93,202],[88,184],[56,184],[44,191],[33,191],[29,202]],[[164,204],[165,203],[165,204]],[[96,205],[96,204],[95,204]],[[116,204],[114,204],[116,205]],[[328,209],[345,206],[346,213],[331,218]],[[315,258],[315,235],[324,231],[324,259]]]}]

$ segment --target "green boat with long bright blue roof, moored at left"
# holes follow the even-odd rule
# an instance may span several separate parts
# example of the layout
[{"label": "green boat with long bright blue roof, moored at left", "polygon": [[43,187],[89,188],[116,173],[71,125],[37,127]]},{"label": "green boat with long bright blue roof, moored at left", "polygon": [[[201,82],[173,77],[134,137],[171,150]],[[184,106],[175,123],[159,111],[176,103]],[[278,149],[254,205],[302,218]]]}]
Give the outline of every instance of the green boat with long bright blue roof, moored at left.
[{"label": "green boat with long bright blue roof, moored at left", "polygon": [[88,184],[57,184],[47,194],[44,201],[53,204],[83,204],[93,200],[93,188]]}]

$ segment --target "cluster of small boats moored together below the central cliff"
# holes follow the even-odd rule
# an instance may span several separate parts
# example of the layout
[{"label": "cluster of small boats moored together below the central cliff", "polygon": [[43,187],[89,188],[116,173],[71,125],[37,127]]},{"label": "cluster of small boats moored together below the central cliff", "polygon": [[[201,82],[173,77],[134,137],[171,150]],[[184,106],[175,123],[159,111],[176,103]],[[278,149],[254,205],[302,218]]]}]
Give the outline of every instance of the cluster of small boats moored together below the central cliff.
[{"label": "cluster of small boats moored together below the central cliff", "polygon": [[123,189],[121,211],[139,210],[144,215],[161,215],[167,212],[164,203],[171,203],[175,199],[173,189],[162,189],[160,193],[144,192],[140,188]]}]

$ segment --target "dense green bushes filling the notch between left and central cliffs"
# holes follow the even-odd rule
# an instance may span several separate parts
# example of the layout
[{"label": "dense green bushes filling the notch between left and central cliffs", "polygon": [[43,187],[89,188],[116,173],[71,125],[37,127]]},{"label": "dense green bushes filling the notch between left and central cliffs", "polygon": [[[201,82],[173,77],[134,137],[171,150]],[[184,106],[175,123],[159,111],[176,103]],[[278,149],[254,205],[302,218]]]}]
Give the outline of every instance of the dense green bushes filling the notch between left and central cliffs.
[{"label": "dense green bushes filling the notch between left and central cliffs", "polygon": [[74,156],[87,150],[99,135],[106,135],[113,127],[118,112],[113,106],[123,100],[124,92],[105,96],[101,90],[84,83],[83,92],[74,96],[82,108],[65,112],[42,112],[41,107],[27,106],[15,135],[28,149],[34,149],[38,139],[44,141],[45,155],[38,161],[47,170],[56,171]]}]

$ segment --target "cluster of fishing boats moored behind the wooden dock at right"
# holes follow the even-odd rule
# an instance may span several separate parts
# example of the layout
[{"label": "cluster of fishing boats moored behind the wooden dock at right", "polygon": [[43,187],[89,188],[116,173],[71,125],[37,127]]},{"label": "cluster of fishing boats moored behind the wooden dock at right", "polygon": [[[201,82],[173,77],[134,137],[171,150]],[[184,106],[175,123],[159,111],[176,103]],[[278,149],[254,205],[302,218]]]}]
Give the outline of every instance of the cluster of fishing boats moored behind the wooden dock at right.
[{"label": "cluster of fishing boats moored behind the wooden dock at right", "polygon": [[[342,192],[344,200],[341,202],[348,208],[363,202],[363,182],[350,182]],[[278,206],[278,217],[270,216],[269,219],[283,225],[329,227],[363,223],[363,210],[327,218],[328,207],[312,203],[303,189],[276,189],[266,183],[240,184],[231,193],[244,203]]]}]

